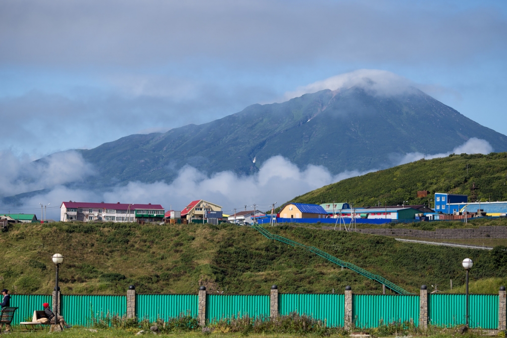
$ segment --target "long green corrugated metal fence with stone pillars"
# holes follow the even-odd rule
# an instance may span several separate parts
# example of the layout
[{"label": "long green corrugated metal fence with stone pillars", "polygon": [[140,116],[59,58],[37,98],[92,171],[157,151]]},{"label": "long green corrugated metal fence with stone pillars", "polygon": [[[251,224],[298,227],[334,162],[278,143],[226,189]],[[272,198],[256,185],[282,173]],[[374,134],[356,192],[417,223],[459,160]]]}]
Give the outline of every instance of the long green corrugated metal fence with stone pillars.
[{"label": "long green corrugated metal fence with stone pillars", "polygon": [[[278,293],[268,295],[231,294],[135,294],[129,314],[125,295],[61,295],[59,311],[70,325],[92,326],[94,320],[114,316],[147,319],[154,322],[188,315],[200,325],[233,318],[268,319],[276,315],[306,315],[329,327],[346,327],[347,316],[358,328],[375,328],[389,323],[411,323],[423,327],[452,327],[465,323],[464,294],[421,295],[351,294],[351,314],[343,293]],[[425,290],[424,290],[425,291]],[[201,291],[200,291],[201,292]],[[276,296],[274,295],[276,294]],[[43,303],[55,304],[52,295],[13,294],[11,306],[18,307],[13,324],[31,321],[33,311]],[[500,303],[500,304],[499,304]],[[499,329],[505,325],[505,291],[499,294],[469,295],[469,325],[472,328]],[[426,310],[424,310],[424,305]],[[427,317],[421,317],[421,309]],[[275,314],[276,312],[276,314]],[[201,321],[202,320],[202,321]],[[503,324],[502,324],[503,323]]]}]

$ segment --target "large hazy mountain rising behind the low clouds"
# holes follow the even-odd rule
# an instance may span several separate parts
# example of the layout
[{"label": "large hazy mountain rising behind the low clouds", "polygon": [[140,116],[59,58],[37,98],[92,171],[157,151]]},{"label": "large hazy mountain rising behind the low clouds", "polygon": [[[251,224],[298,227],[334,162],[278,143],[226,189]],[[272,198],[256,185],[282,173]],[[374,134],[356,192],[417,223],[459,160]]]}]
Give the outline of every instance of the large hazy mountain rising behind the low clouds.
[{"label": "large hazy mountain rising behind the low clouds", "polygon": [[507,136],[419,90],[375,96],[351,88],[255,104],[210,123],[130,135],[81,153],[99,173],[87,185],[103,187],[132,180],[170,182],[187,164],[208,174],[250,174],[276,155],[300,167],[323,165],[334,174],[387,168],[393,155],[445,153],[471,137],[507,151]]}]

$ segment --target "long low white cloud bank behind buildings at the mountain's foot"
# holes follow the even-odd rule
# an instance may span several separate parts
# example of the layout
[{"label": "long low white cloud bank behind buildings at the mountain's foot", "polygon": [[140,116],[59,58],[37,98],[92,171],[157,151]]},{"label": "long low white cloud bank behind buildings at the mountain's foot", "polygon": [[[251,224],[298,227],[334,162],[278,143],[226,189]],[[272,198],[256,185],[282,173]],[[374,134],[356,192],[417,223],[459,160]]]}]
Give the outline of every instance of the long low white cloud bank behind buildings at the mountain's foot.
[{"label": "long low white cloud bank behind buildings at the mountain's foot", "polygon": [[[39,194],[23,200],[23,206],[16,210],[38,210],[41,201],[60,206],[62,201],[90,201],[108,203],[152,203],[162,204],[166,209],[183,209],[190,201],[204,199],[224,207],[224,212],[233,208],[250,208],[256,203],[261,210],[268,210],[271,203],[284,203],[295,196],[307,193],[323,185],[365,174],[366,172],[346,171],[332,175],[322,166],[309,165],[299,169],[291,161],[275,156],[267,160],[259,172],[250,176],[238,176],[231,171],[207,176],[196,168],[186,166],[170,184],[164,182],[129,182],[116,186],[107,192],[92,192],[69,189],[58,185],[47,194]],[[64,175],[62,175],[63,178]],[[40,183],[39,185],[43,185]],[[14,210],[11,208],[11,210]],[[48,218],[58,219],[59,210],[48,209]]]}]

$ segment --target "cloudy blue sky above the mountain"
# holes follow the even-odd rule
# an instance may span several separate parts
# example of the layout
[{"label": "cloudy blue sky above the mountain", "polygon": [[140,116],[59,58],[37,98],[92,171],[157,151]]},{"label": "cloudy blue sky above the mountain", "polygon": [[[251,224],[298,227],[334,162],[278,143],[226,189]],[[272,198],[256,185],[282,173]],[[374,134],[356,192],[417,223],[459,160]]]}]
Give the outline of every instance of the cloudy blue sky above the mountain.
[{"label": "cloudy blue sky above the mountain", "polygon": [[507,134],[496,2],[3,1],[0,152],[36,159],[205,123],[356,69]]}]

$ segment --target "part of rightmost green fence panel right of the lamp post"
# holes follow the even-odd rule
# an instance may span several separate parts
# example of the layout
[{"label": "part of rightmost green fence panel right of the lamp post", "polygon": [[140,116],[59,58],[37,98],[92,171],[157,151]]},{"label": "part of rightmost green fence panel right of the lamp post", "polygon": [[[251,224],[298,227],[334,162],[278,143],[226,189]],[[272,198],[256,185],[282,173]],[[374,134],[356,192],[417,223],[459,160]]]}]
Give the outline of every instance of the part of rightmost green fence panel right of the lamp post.
[{"label": "part of rightmost green fence panel right of the lamp post", "polygon": [[484,329],[498,328],[497,294],[470,294],[468,301],[470,327],[481,327]]}]

